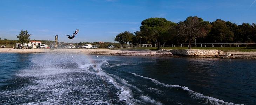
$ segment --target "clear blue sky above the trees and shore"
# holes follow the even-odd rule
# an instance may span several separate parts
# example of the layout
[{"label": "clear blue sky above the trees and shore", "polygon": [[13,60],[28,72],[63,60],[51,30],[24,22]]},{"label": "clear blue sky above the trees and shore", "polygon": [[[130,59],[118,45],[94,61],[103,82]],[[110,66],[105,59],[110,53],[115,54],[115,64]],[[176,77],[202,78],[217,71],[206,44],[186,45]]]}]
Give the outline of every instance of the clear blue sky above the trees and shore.
[{"label": "clear blue sky above the trees and shore", "polygon": [[[159,17],[178,23],[188,16],[256,23],[256,0],[0,0],[0,38],[29,38],[59,42],[116,42],[124,31],[140,30],[141,21]],[[76,29],[78,34],[72,40]]]}]

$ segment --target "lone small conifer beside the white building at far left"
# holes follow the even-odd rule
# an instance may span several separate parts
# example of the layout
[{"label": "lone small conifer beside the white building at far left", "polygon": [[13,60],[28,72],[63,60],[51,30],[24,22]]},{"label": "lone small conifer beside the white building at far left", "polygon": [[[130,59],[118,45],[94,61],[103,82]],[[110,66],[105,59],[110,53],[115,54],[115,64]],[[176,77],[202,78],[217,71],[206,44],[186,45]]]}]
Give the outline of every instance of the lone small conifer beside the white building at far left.
[{"label": "lone small conifer beside the white building at far left", "polygon": [[27,31],[27,30],[23,31],[23,29],[22,29],[21,32],[20,32],[20,34],[19,34],[19,35],[16,35],[16,36],[17,36],[17,38],[19,39],[18,42],[24,44],[24,43],[29,43],[29,40],[30,40],[29,36],[30,36],[30,35],[31,35],[31,34],[28,34],[28,31]]}]

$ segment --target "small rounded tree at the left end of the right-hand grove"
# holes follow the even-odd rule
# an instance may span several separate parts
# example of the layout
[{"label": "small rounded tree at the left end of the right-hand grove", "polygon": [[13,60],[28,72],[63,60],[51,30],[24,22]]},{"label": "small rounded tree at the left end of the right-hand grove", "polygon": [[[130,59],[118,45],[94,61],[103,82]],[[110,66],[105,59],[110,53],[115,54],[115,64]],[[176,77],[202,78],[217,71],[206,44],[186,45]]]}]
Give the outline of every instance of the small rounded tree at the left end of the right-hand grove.
[{"label": "small rounded tree at the left end of the right-hand grove", "polygon": [[115,41],[122,44],[122,47],[123,47],[124,43],[126,43],[126,45],[127,45],[127,42],[130,42],[130,43],[132,42],[133,36],[134,36],[133,33],[125,31],[124,33],[120,33],[120,34],[116,35],[116,37],[114,39],[115,39]]}]

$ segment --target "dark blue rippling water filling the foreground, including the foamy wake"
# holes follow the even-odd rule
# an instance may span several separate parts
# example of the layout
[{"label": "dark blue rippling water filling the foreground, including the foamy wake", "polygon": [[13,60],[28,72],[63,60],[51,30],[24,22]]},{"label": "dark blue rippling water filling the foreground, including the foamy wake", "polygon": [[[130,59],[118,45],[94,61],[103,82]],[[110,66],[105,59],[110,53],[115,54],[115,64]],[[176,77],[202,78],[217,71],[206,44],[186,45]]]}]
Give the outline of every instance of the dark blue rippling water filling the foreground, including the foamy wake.
[{"label": "dark blue rippling water filling the foreground, including the foamy wake", "polygon": [[0,53],[0,104],[254,105],[256,60]]}]

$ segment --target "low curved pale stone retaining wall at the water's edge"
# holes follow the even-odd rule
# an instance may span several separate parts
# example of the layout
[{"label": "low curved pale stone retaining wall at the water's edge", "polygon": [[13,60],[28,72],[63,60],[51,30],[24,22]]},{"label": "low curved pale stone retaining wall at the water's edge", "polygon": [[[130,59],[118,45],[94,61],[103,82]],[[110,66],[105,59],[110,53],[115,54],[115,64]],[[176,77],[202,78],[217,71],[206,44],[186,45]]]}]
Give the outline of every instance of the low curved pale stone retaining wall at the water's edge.
[{"label": "low curved pale stone retaining wall at the water's edge", "polygon": [[201,50],[201,49],[174,49],[171,50],[173,55],[189,57],[212,57],[218,55],[218,50]]}]

